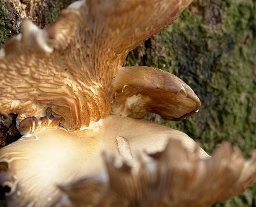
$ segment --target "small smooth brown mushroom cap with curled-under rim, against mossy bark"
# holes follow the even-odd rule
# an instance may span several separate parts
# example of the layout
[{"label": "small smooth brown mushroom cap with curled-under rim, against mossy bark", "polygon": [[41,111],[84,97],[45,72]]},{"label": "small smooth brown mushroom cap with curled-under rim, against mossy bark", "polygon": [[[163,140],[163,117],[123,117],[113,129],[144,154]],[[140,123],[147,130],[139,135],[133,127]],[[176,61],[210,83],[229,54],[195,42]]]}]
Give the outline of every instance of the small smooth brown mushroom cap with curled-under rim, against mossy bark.
[{"label": "small smooth brown mushroom cap with curled-under rim, against mossy bark", "polygon": [[154,67],[122,67],[113,81],[112,113],[143,117],[154,112],[183,120],[200,108],[193,90],[175,75]]}]

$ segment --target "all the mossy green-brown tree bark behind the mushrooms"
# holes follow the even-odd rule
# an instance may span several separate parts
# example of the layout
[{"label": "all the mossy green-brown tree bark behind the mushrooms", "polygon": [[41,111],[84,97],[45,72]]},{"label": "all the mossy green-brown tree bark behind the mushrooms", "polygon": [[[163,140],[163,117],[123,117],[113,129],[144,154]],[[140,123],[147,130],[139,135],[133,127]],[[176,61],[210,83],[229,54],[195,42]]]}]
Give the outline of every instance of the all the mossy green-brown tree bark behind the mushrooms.
[{"label": "all the mossy green-brown tree bark behind the mushrooms", "polygon": [[[0,44],[20,32],[25,17],[44,27],[71,2],[1,0]],[[256,148],[255,10],[255,0],[195,0],[173,25],[133,50],[127,66],[147,65],[172,72],[192,87],[202,103],[197,114],[182,122],[154,114],[146,117],[187,133],[209,153],[228,141],[248,156]],[[6,137],[19,136],[14,119],[1,118],[1,143],[8,144]],[[256,185],[214,206],[256,206]]]}]

